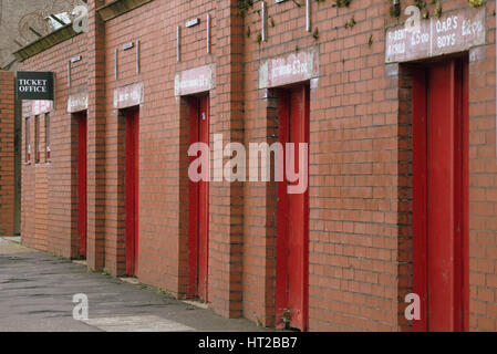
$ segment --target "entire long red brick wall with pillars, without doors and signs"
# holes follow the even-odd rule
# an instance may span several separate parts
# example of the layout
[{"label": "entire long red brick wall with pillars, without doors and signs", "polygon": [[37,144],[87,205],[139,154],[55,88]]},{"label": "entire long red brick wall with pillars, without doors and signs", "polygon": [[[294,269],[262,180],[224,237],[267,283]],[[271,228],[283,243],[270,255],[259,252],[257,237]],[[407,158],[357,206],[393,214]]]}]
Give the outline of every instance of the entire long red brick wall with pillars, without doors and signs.
[{"label": "entire long red brick wall with pillars, without doors and signs", "polygon": [[[394,22],[389,2],[353,0],[338,9],[333,1],[312,1],[309,33],[303,8],[267,1],[268,40],[261,44],[260,2],[242,19],[235,0],[153,1],[105,24],[94,15],[101,3],[89,1],[87,34],[25,62],[25,69],[55,71],[58,94],[52,164],[23,167],[24,242],[75,254],[74,122],[65,105],[70,93],[87,87],[89,267],[124,272],[124,131],[113,91],[142,82],[137,277],[185,296],[188,125],[186,102],[174,95],[175,73],[216,65],[211,143],[216,133],[225,143],[271,143],[277,138],[277,91],[258,90],[259,66],[270,58],[315,49],[320,77],[310,94],[310,330],[410,331],[403,299],[412,292],[411,80],[407,65],[384,64],[385,23]],[[442,4],[444,12],[468,7],[466,0]],[[497,323],[495,4],[486,8],[490,44],[469,52],[474,331],[495,331]],[[433,13],[432,4],[428,9]],[[207,13],[213,23],[210,54],[205,49]],[[184,27],[197,17],[199,25]],[[352,17],[356,24],[345,29]],[[137,40],[139,73],[135,49],[122,51],[123,44]],[[74,82],[68,88],[66,62],[77,54],[83,62],[73,69]],[[43,198],[46,207],[39,201]],[[263,325],[273,325],[280,316],[275,313],[276,202],[275,184],[210,184],[209,302],[217,313]],[[38,216],[46,214],[44,208],[46,226],[41,225],[44,215]]]}]

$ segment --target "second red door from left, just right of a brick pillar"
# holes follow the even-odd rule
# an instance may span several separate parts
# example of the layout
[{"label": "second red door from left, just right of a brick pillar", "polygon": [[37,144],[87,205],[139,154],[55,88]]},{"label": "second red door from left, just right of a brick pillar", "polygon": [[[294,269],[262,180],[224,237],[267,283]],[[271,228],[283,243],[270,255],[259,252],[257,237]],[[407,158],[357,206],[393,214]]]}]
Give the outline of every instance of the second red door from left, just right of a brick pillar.
[{"label": "second red door from left, just right of a brick pillar", "polygon": [[138,264],[138,123],[139,110],[125,111],[126,273],[136,275]]}]

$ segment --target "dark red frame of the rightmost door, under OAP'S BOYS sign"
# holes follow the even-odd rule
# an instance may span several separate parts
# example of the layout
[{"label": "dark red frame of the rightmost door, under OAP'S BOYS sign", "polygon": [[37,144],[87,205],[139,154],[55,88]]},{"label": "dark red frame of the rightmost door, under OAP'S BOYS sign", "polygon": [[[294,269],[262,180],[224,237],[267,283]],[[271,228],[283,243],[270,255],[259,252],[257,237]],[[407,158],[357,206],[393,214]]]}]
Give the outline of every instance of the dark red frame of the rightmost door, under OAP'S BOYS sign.
[{"label": "dark red frame of the rightmost door, under OAP'S BOYS sign", "polygon": [[[460,220],[462,232],[459,243],[456,244],[455,251],[455,269],[458,268],[462,277],[460,285],[460,306],[462,306],[462,327],[460,331],[469,330],[469,217],[468,217],[468,198],[469,198],[469,112],[468,112],[468,90],[457,87],[455,74],[462,74],[459,77],[463,85],[468,88],[468,61],[467,59],[448,59],[452,62],[452,77],[449,80],[451,91],[454,93],[460,92],[462,106],[457,107],[455,100],[452,100],[453,116],[460,110],[460,121],[456,122],[459,132],[463,135],[462,144],[462,188],[460,196]],[[412,86],[412,168],[413,168],[413,292],[420,295],[421,301],[421,319],[413,320],[413,330],[416,332],[428,331],[428,249],[427,249],[427,66],[429,63],[418,64],[412,69],[413,86]],[[464,201],[464,202],[463,202]],[[456,257],[458,256],[458,257]],[[456,329],[457,330],[457,329]]]}]

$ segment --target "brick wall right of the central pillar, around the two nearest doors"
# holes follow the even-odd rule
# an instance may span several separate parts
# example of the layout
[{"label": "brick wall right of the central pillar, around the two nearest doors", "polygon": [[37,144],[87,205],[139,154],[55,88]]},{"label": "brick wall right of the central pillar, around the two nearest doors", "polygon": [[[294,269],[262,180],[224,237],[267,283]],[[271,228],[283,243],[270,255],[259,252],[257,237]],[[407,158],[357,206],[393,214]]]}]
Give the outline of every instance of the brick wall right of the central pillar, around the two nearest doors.
[{"label": "brick wall right of the central pillar, around the two nearest doors", "polygon": [[[442,3],[444,11],[468,7],[467,1]],[[304,31],[303,9],[291,1],[268,4],[275,23],[268,42],[257,43],[260,3],[245,22],[246,31],[251,29],[245,46],[246,142],[273,134],[268,119],[273,102],[257,90],[260,63],[313,46],[320,52],[321,77],[311,90],[310,329],[410,330],[403,299],[412,292],[412,153],[411,118],[403,112],[411,91],[401,84],[403,66],[384,64],[384,23],[393,22],[389,3],[352,1],[336,9],[331,1],[312,2],[318,40]],[[487,43],[495,42],[494,8],[487,4]],[[428,9],[433,13],[433,6]],[[345,29],[352,15],[356,24]],[[470,54],[470,329],[494,331],[495,45]],[[271,188],[246,184],[244,219],[244,314],[269,324],[275,301]]]}]

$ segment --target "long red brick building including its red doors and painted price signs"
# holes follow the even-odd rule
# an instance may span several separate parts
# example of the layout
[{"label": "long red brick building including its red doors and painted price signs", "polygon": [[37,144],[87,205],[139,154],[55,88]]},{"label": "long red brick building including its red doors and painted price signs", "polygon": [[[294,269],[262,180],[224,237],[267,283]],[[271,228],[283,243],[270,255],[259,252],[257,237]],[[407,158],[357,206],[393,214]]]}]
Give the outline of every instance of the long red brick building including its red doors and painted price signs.
[{"label": "long red brick building including its red doors and painted price signs", "polygon": [[[22,103],[22,242],[266,326],[496,331],[495,3],[408,32],[410,2],[89,1],[14,53],[55,77]],[[309,143],[309,189],[191,181],[215,134]]]}]

